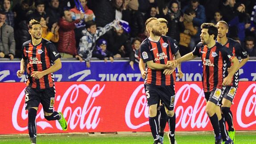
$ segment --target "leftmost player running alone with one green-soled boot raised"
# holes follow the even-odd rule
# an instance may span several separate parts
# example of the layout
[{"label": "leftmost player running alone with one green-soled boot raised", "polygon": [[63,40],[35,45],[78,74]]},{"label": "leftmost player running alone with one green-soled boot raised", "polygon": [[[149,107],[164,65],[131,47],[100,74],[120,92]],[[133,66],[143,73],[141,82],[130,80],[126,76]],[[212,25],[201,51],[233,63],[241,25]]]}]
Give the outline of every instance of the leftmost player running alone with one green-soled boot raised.
[{"label": "leftmost player running alone with one green-soled boot raised", "polygon": [[29,117],[29,138],[32,144],[36,144],[39,103],[43,106],[45,119],[58,120],[64,131],[67,130],[67,123],[61,112],[54,111],[55,86],[52,73],[61,69],[61,56],[53,43],[42,38],[42,26],[34,19],[29,21],[29,34],[32,40],[22,45],[21,70],[17,71],[17,76],[21,77],[27,69],[25,109]]}]

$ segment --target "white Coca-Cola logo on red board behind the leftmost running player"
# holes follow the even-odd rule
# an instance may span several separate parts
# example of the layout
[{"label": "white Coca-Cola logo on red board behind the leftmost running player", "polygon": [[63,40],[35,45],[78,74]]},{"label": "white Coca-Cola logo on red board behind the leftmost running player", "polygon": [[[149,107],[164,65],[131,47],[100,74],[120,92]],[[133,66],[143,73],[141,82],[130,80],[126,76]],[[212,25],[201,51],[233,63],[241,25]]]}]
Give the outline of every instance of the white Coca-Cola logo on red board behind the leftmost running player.
[{"label": "white Coca-Cola logo on red board behind the leftmost running player", "polygon": [[[101,110],[101,106],[93,106],[93,104],[104,88],[105,85],[101,87],[99,84],[95,84],[95,86],[93,86],[91,89],[85,84],[73,84],[66,90],[63,96],[56,96],[56,101],[59,101],[57,111],[62,111],[63,116],[66,118],[67,123],[69,123],[68,126],[71,130],[76,128],[78,124],[80,129],[95,129],[98,126],[100,121],[99,112]],[[28,119],[28,114],[25,111],[24,90],[17,98],[12,110],[12,125],[18,131],[27,130],[27,126],[21,126],[19,124],[21,119]],[[83,105],[83,107],[79,107],[80,105]],[[73,108],[71,106],[73,106]],[[18,112],[20,110],[21,112]],[[43,109],[41,108],[41,110],[39,109],[38,111],[39,112],[37,113],[36,117],[37,126],[41,127],[42,129],[53,128],[53,126],[44,119]],[[62,128],[57,123],[58,121],[56,121],[55,127],[61,130]]]}]

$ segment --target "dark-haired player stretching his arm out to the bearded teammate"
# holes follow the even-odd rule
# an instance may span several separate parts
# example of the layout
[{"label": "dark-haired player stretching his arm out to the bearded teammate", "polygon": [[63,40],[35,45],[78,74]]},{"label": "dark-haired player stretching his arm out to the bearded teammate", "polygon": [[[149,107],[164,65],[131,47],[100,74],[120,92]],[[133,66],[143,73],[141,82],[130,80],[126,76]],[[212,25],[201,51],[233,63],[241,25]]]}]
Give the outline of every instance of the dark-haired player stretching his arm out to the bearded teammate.
[{"label": "dark-haired player stretching his arm out to the bearded teammate", "polygon": [[[205,110],[214,129],[215,144],[221,144],[222,137],[219,134],[219,121],[216,114],[217,103],[223,91],[222,86],[227,86],[231,83],[235,71],[239,68],[239,61],[227,48],[215,41],[218,29],[214,24],[203,23],[201,29],[201,42],[196,45],[194,50],[182,56],[182,58],[168,62],[168,64],[169,67],[175,67],[177,63],[192,60],[197,56],[201,57],[203,66],[202,84],[207,101]],[[225,63],[227,61],[232,62],[233,66],[227,77],[223,78],[223,74],[226,72],[225,65],[227,64]],[[165,70],[165,74],[168,74],[168,71],[168,69]],[[232,140],[228,137],[225,144],[232,144]]]}]

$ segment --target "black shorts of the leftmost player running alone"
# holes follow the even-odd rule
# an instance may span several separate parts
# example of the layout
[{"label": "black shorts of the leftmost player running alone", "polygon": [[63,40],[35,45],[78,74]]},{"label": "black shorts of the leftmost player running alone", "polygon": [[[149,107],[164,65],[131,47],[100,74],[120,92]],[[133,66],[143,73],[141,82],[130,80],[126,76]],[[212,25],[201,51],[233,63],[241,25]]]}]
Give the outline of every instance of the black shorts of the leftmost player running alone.
[{"label": "black shorts of the leftmost player running alone", "polygon": [[25,89],[25,109],[38,107],[42,104],[45,112],[53,113],[54,110],[55,89],[54,87],[45,89],[36,89],[27,86]]}]

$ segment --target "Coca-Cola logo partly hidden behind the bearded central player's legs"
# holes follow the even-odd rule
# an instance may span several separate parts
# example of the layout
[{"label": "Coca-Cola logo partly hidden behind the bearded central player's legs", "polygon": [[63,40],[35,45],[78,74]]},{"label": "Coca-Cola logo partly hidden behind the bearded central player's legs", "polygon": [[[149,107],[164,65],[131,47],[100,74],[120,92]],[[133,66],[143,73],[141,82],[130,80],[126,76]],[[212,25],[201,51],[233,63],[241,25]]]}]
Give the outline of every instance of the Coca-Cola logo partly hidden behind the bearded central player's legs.
[{"label": "Coca-Cola logo partly hidden behind the bearded central player's legs", "polygon": [[[181,125],[182,128],[187,128],[190,125],[191,128],[205,128],[209,122],[205,104],[202,88],[196,84],[183,85],[175,96],[176,127]],[[129,128],[138,129],[149,124],[148,117],[149,107],[144,84],[141,84],[132,93],[127,103],[125,122]],[[138,119],[144,121],[138,123]]]}]

